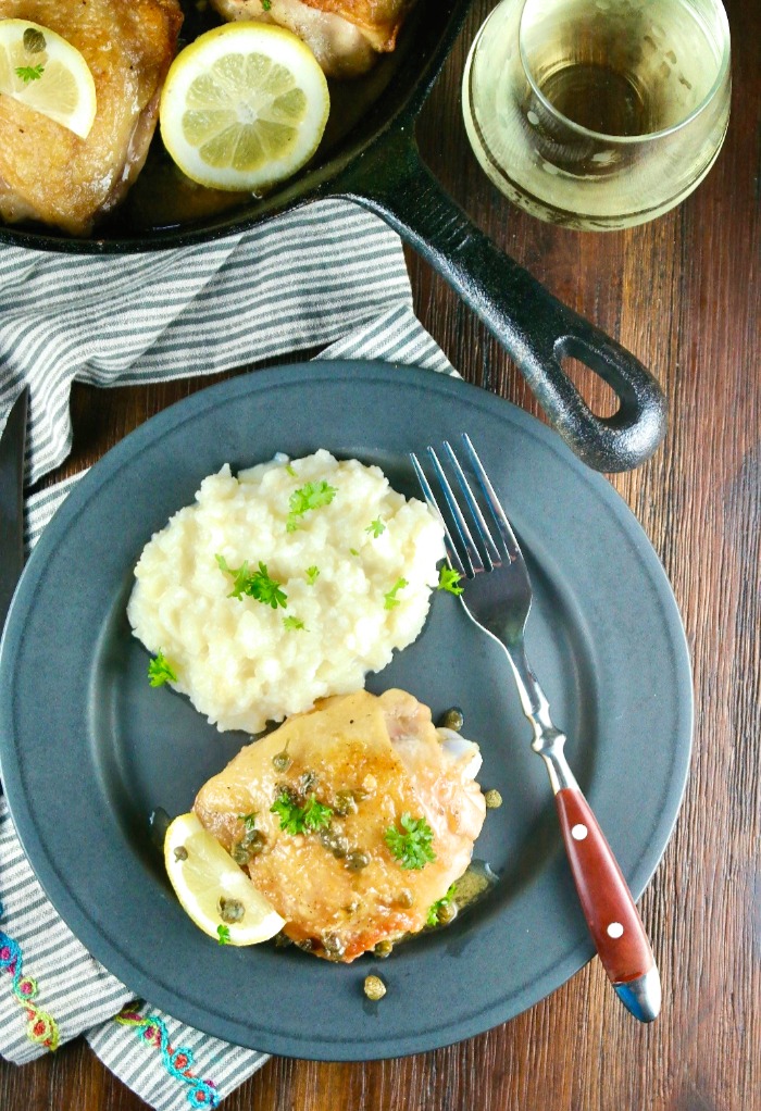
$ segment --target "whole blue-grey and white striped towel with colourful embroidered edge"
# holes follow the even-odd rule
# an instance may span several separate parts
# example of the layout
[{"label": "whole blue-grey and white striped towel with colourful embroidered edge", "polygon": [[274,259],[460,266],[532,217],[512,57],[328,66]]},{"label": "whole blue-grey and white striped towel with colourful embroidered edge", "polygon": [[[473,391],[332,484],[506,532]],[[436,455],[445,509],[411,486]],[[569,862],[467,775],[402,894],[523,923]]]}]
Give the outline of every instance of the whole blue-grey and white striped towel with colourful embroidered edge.
[{"label": "whole blue-grey and white striped towel with colourful embroidered edge", "polygon": [[[319,358],[381,359],[454,373],[412,312],[399,240],[347,203],[314,204],[244,241],[171,256],[0,253],[0,424],[21,383],[30,382],[32,480],[69,450],[74,379],[121,386],[210,373],[326,343]],[[80,478],[28,499],[28,551]],[[47,901],[2,798],[0,903],[0,931],[19,943],[60,1042],[86,1033],[103,1063],[150,1107],[218,1105],[267,1061],[149,1003],[132,1003]],[[48,1050],[27,1038],[10,982],[0,977],[0,1053],[20,1064]],[[117,1021],[128,1003],[131,1018]],[[190,1080],[179,1075],[178,1054],[190,1058]],[[199,1102],[209,1092],[211,1102]]]}]

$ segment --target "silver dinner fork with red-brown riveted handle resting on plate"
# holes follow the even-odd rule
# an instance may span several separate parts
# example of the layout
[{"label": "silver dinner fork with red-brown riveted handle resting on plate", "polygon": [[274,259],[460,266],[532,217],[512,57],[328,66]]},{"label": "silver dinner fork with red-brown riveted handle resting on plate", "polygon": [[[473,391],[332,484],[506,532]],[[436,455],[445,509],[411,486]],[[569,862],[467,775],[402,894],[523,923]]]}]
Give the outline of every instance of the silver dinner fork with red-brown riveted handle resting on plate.
[{"label": "silver dinner fork with red-brown riveted handle resting on plate", "polygon": [[447,441],[443,452],[461,490],[460,500],[434,449],[429,447],[428,453],[451,527],[413,452],[412,466],[425,501],[443,526],[447,558],[450,568],[460,575],[460,600],[465,612],[508,654],[523,713],[533,729],[532,748],[542,757],[550,775],[579,901],[603,968],[624,1007],[641,1022],[652,1022],[661,1007],[661,981],[650,941],[613,852],[569,768],[563,752],[565,737],[552,723],[549,702],[525,655],[523,633],[531,608],[525,560],[465,433],[462,443],[489,507],[491,528]]}]

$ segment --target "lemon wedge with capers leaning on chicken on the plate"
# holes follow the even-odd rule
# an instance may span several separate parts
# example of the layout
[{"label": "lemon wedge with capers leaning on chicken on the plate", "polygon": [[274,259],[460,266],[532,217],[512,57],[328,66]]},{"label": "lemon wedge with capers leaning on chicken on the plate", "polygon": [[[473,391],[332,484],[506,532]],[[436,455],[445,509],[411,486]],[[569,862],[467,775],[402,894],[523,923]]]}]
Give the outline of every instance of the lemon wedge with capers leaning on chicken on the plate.
[{"label": "lemon wedge with capers leaning on chicken on the plate", "polygon": [[196,814],[180,814],[170,824],[163,859],[182,909],[209,937],[253,945],[286,924]]}]

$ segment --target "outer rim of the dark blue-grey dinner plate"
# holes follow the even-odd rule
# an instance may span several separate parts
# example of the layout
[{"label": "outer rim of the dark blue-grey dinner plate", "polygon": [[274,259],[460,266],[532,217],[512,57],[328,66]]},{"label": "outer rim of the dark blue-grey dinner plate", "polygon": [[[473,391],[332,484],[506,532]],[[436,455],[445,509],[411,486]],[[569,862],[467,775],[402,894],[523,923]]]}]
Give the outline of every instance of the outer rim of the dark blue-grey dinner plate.
[{"label": "outer rim of the dark blue-grey dinner plate", "polygon": [[[50,552],[54,550],[60,536],[68,532],[69,528],[76,523],[77,517],[90,499],[97,496],[98,491],[111,478],[117,476],[121,468],[142,450],[143,446],[148,446],[167,432],[181,427],[181,424],[186,421],[197,419],[204,412],[204,410],[213,410],[219,401],[234,400],[237,396],[249,393],[251,391],[259,392],[262,390],[271,390],[273,386],[277,386],[283,380],[287,380],[288,384],[293,384],[300,380],[309,380],[310,383],[313,384],[316,376],[318,378],[322,377],[326,381],[333,383],[339,380],[346,382],[351,376],[353,378],[362,378],[367,382],[382,381],[383,384],[391,386],[399,386],[402,382],[410,386],[419,384],[423,389],[423,392],[429,392],[430,390],[443,390],[445,393],[451,393],[454,397],[460,394],[463,390],[471,391],[470,401],[479,401],[482,407],[485,407],[487,410],[501,410],[501,412],[498,413],[498,417],[503,418],[508,424],[512,422],[519,428],[522,427],[523,430],[528,431],[529,434],[532,436],[532,438],[539,439],[542,450],[552,451],[554,454],[560,457],[563,466],[568,467],[570,464],[573,469],[575,469],[578,474],[582,476],[584,482],[591,484],[591,487],[594,488],[602,497],[607,507],[615,512],[623,531],[631,541],[635,542],[638,560],[647,567],[649,577],[653,582],[659,601],[661,602],[663,624],[668,629],[668,639],[674,653],[677,670],[681,671],[681,675],[678,677],[678,679],[681,680],[678,683],[680,695],[679,703],[681,714],[685,721],[684,732],[687,734],[687,739],[682,738],[680,739],[679,744],[674,744],[671,761],[673,774],[671,780],[665,785],[660,811],[657,815],[657,820],[650,829],[649,842],[642,850],[633,874],[628,877],[634,898],[639,899],[642,890],[658,867],[658,863],[660,862],[671,838],[684,795],[691,759],[693,735],[692,674],[687,637],[679,608],[673,595],[673,590],[658,553],[654,551],[650,540],[642,529],[642,526],[639,523],[624,500],[602,476],[590,471],[583,463],[580,462],[580,460],[577,459],[575,456],[570,452],[557,433],[547,428],[534,417],[513,406],[505,399],[483,390],[480,387],[472,386],[460,378],[438,374],[427,369],[404,367],[398,363],[390,363],[380,360],[367,362],[357,362],[352,360],[317,360],[311,362],[299,361],[287,366],[270,368],[268,370],[248,372],[232,379],[227,379],[222,382],[216,383],[214,386],[207,387],[206,389],[201,389],[190,397],[183,398],[182,400],[157,413],[139,428],[130,432],[118,444],[110,449],[110,451],[101,457],[101,459],[94,463],[92,468],[90,468],[88,473],[83,476],[80,482],[67,497],[53,519],[48,523],[48,526],[46,526],[40,541],[29,560],[28,568],[32,568],[32,572],[29,573],[28,570],[24,570],[24,574],[19,582],[11,609],[9,611],[2,642],[0,643],[0,721],[2,721],[6,714],[8,714],[12,722],[12,713],[10,713],[12,710],[12,692],[9,694],[8,691],[9,683],[7,673],[10,668],[8,658],[12,658],[14,649],[18,649],[18,644],[22,639],[21,634],[23,624],[20,622],[20,619],[16,617],[16,614],[20,613],[22,611],[22,607],[27,604],[26,597],[30,589],[29,584],[31,583],[33,575],[37,573],[37,568],[40,567],[40,570],[42,571],[44,563],[47,562]],[[343,376],[343,378],[341,378],[341,376]],[[38,552],[39,554],[37,554]],[[0,731],[0,735],[4,732],[6,731]],[[10,729],[8,730],[7,735],[10,738]],[[41,841],[37,830],[31,823],[27,800],[23,799],[21,793],[22,788],[20,785],[21,777],[19,762],[13,755],[10,740],[7,741],[4,737],[0,741],[0,775],[2,775],[2,781],[6,785],[8,805],[24,852],[30,858],[36,860],[38,867],[40,865],[40,862],[42,863],[42,875],[38,878],[43,887],[43,890],[46,890],[48,898],[61,914],[61,918],[63,918],[67,923],[70,920],[74,922],[77,929],[72,929],[72,932],[76,935],[79,937],[81,934],[81,925],[84,921],[84,934],[88,938],[87,947],[92,949],[93,947],[90,935],[90,927],[93,924],[92,920],[88,918],[87,913],[83,912],[79,903],[73,900],[68,892],[63,877],[59,873],[56,862],[49,859],[50,854],[47,845]],[[9,783],[11,784],[10,790],[8,790]],[[17,794],[16,798],[14,794]],[[654,847],[655,842],[657,847]],[[48,890],[49,887],[52,891]],[[82,917],[83,913],[84,918]],[[103,945],[109,950],[108,962],[102,961],[101,954],[104,950],[100,948],[100,941],[103,941]],[[82,943],[84,944],[86,942],[83,941]],[[140,989],[136,993],[148,995],[149,998],[152,994],[153,1002],[157,1005],[161,1005],[164,1010],[168,1010],[169,1013],[172,1013],[171,1007],[168,1008],[164,1005],[164,999],[156,998],[157,994],[163,997],[163,991],[161,990],[160,992],[156,992],[150,990],[151,985],[144,982],[143,973],[130,963],[129,955],[126,955],[121,951],[120,947],[118,948],[114,945],[113,939],[103,938],[102,935],[99,937],[97,948],[100,949],[100,954],[97,959],[101,960],[101,963],[103,963],[107,969],[112,972],[112,974],[117,975],[117,978],[122,981],[129,979],[131,985],[134,985],[136,988],[139,987]],[[428,1027],[424,1034],[419,1037],[408,1037],[405,1039],[404,1048],[400,1050],[399,1045],[394,1045],[392,1052],[390,1052],[388,1047],[384,1047],[383,1044],[373,1049],[372,1047],[368,1048],[366,1043],[362,1043],[361,1055],[358,1055],[356,1052],[351,1051],[351,1047],[347,1048],[344,1042],[330,1042],[330,1052],[326,1052],[326,1047],[322,1042],[319,1042],[316,1048],[309,1039],[307,1039],[307,1045],[298,1044],[296,1045],[294,1051],[294,1042],[298,1039],[291,1038],[290,1035],[282,1038],[278,1033],[269,1037],[269,1043],[266,1048],[259,1048],[262,1052],[274,1052],[292,1057],[304,1057],[314,1060],[336,1061],[382,1059],[440,1048],[450,1044],[453,1041],[472,1037],[475,1033],[490,1029],[494,1024],[507,1021],[509,1018],[514,1017],[514,1014],[518,1014],[528,1007],[533,1005],[540,999],[545,998],[547,994],[564,983],[572,974],[574,974],[575,971],[583,967],[591,955],[593,955],[591,941],[589,941],[587,945],[580,948],[583,948],[583,952],[580,952],[579,949],[573,950],[568,959],[560,960],[554,965],[551,965],[545,971],[543,977],[539,979],[537,977],[530,979],[528,984],[523,985],[520,991],[525,994],[528,988],[529,993],[534,994],[535,998],[528,1001],[521,1000],[517,1009],[512,1010],[511,1014],[508,1015],[507,1019],[489,1018],[484,1024],[482,1018],[479,1018],[479,1015],[483,1015],[483,1011],[470,1012],[467,1020],[458,1023],[457,1033],[452,1033],[452,1021],[448,1019],[440,1027],[435,1028],[441,1032],[444,1030],[448,1031],[443,1038],[441,1035],[432,1037],[433,1031],[430,1027]],[[116,959],[112,961],[110,959],[111,957],[116,957]],[[122,960],[126,963],[122,963]],[[129,977],[126,978],[123,974],[120,974],[120,972],[128,970],[128,967]],[[149,987],[148,992],[144,991],[146,987]],[[535,990],[531,992],[530,989],[532,987],[534,989],[538,987],[540,994],[537,994]],[[176,994],[174,998],[177,999],[180,997]],[[209,1010],[199,1010],[193,1001],[188,1000],[187,998],[183,998],[182,1007],[182,1021],[186,1021],[200,1030],[208,1029],[208,1025],[204,1024],[204,1017],[211,1013]],[[491,1010],[493,1010],[493,1007]],[[216,1037],[227,1038],[229,1040],[229,1035],[220,1033],[219,1028],[209,1032]],[[240,1040],[236,1039],[236,1043],[240,1044]],[[248,1044],[251,1045],[250,1042]],[[253,1048],[253,1045],[251,1045],[251,1048]]]}]

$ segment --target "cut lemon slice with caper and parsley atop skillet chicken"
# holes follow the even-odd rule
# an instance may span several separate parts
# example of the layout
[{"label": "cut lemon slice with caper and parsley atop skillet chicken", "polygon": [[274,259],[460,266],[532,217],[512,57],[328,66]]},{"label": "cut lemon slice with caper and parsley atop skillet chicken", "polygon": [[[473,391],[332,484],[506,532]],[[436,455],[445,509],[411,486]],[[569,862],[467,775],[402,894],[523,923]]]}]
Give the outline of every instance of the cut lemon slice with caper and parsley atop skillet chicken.
[{"label": "cut lemon slice with caper and parsley atop skillet chicken", "polygon": [[0,94],[80,139],[87,139],[96,118],[96,82],[79,50],[28,19],[0,20]]}]

